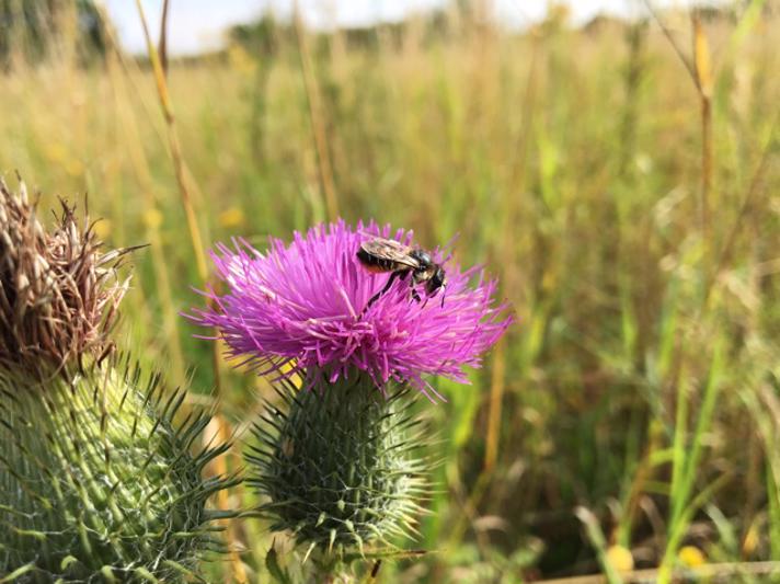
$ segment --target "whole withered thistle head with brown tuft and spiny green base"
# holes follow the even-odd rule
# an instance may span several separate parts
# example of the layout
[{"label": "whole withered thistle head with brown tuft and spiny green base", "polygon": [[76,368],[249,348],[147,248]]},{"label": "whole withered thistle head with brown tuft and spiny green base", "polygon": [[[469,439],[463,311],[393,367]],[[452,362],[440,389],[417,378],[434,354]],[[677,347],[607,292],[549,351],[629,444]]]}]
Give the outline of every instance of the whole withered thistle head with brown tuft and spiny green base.
[{"label": "whole withered thistle head with brown tuft and spiny green base", "polygon": [[50,232],[0,182],[0,577],[182,582],[218,548],[205,479],[228,446],[190,453],[205,413],[112,351],[127,250],[62,204]]}]

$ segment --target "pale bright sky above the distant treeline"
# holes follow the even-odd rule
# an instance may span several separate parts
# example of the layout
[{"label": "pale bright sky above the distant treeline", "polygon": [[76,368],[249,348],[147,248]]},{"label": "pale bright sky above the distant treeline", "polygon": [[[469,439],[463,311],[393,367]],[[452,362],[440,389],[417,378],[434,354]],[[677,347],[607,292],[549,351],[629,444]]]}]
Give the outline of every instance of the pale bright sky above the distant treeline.
[{"label": "pale bright sky above the distant treeline", "polygon": [[[162,0],[141,0],[149,25],[157,36]],[[251,21],[271,9],[279,16],[289,15],[294,0],[169,0],[169,51],[192,55],[218,48],[229,26]],[[136,2],[103,0],[123,45],[130,53],[145,50]],[[307,24],[325,28],[334,25],[359,26],[377,21],[400,20],[410,12],[444,4],[444,0],[298,0]],[[653,5],[687,5],[691,0],[654,0]],[[711,2],[709,2],[711,3]],[[641,9],[641,0],[571,0],[574,22],[586,22],[598,13],[631,15]],[[524,27],[541,19],[548,0],[493,0],[501,22]]]}]

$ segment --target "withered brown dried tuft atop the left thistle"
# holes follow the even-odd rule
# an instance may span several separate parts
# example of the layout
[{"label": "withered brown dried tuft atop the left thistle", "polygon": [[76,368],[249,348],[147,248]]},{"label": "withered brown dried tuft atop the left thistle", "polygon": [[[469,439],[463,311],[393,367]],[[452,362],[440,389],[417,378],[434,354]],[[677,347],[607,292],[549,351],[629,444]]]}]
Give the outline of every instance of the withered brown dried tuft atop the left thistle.
[{"label": "withered brown dried tuft atop the left thistle", "polygon": [[45,376],[111,351],[129,250],[104,253],[94,224],[65,202],[50,231],[35,207],[24,183],[14,194],[0,180],[0,368]]}]

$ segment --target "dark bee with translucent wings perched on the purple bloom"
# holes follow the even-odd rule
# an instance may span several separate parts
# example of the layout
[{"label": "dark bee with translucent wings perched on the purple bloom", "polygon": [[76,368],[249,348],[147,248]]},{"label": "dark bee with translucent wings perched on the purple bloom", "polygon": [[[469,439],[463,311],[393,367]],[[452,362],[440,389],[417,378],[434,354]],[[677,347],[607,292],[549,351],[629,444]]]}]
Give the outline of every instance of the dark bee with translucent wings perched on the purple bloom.
[{"label": "dark bee with translucent wings perched on the purple bloom", "polygon": [[415,286],[425,283],[425,291],[428,296],[435,295],[439,288],[443,288],[441,306],[444,306],[447,277],[441,265],[434,262],[425,250],[410,248],[392,239],[374,238],[360,244],[357,259],[369,272],[392,272],[388,283],[368,300],[364,311],[368,310],[381,295],[390,289],[395,278],[404,279],[410,274],[412,275],[410,282],[412,298],[417,302],[421,300]]}]

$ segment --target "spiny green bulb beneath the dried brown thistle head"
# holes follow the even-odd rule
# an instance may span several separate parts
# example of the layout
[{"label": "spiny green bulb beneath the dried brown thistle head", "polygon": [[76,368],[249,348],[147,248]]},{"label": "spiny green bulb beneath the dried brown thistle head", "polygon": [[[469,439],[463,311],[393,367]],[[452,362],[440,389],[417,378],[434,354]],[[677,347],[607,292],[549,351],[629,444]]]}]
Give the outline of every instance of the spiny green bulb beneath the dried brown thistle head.
[{"label": "spiny green bulb beneath the dried brown thistle head", "polygon": [[219,547],[213,520],[226,515],[206,500],[231,481],[202,478],[227,445],[194,444],[208,416],[174,423],[183,399],[114,359],[44,381],[0,371],[0,575],[196,576],[200,556]]}]

